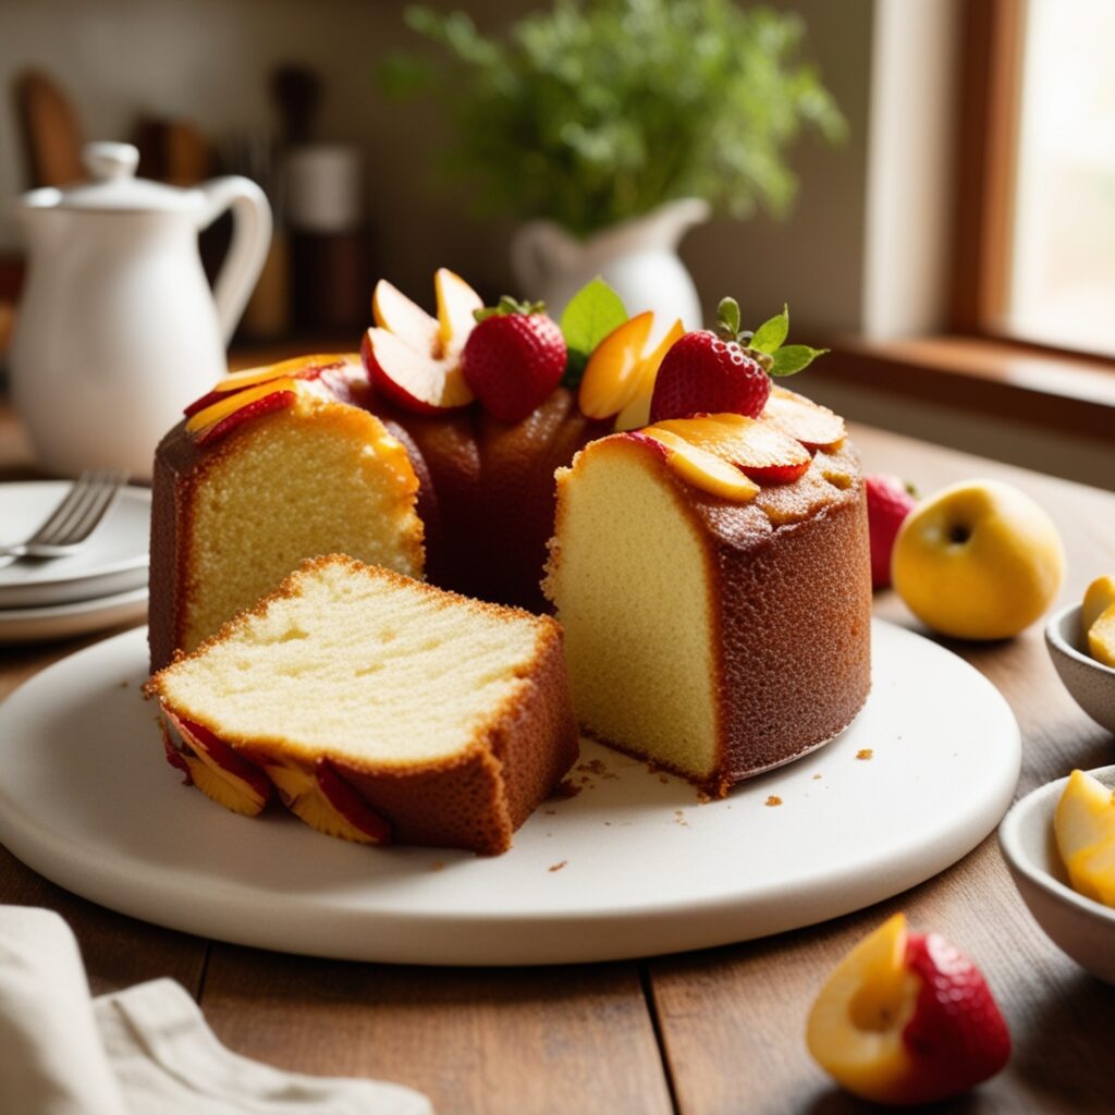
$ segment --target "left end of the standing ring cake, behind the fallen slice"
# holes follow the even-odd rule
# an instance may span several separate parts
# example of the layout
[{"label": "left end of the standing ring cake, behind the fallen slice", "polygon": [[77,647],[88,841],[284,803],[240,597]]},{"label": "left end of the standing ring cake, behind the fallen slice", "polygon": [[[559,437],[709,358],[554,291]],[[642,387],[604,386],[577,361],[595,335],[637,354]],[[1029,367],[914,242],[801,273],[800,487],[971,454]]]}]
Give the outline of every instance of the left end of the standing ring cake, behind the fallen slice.
[{"label": "left end of the standing ring cake, behind the fallen slice", "polygon": [[163,439],[152,489],[152,670],[307,558],[347,553],[421,576],[418,477],[385,424],[350,405],[366,386],[345,356],[240,372]]}]

